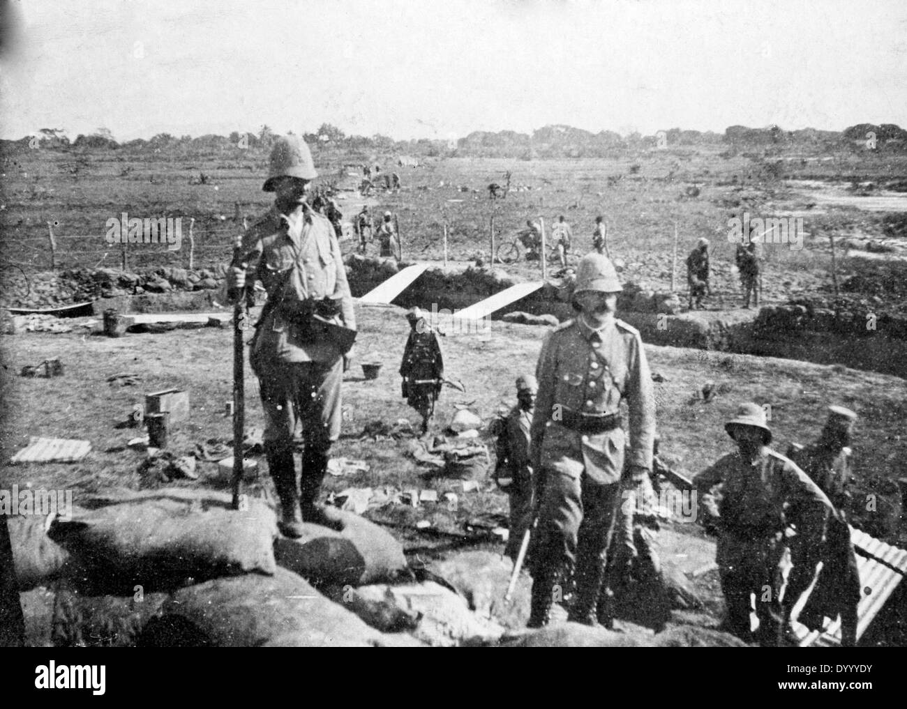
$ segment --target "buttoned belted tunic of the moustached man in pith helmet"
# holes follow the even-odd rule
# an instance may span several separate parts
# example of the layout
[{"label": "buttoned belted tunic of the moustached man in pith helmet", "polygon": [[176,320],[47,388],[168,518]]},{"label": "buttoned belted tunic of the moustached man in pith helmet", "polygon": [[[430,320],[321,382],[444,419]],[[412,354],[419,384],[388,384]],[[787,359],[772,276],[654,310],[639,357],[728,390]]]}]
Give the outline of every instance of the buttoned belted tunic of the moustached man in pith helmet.
[{"label": "buttoned belted tunic of the moustached man in pith helmet", "polygon": [[566,428],[564,409],[574,413],[619,413],[629,407],[629,465],[652,468],[655,398],[649,364],[636,328],[611,318],[593,330],[578,317],[561,324],[541,345],[536,368],[539,392],[532,416],[532,461],[571,476],[583,471],[600,484],[618,482],[625,436],[620,428],[585,434]]}]

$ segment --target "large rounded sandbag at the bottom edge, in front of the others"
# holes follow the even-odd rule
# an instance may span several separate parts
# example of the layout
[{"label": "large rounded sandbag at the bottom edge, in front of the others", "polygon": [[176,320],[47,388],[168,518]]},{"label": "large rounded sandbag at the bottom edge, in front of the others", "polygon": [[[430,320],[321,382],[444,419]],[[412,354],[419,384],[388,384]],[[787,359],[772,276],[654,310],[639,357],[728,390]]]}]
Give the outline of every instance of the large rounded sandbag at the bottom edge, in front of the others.
[{"label": "large rounded sandbag at the bottom edge, in front of the others", "polygon": [[216,578],[181,588],[141,634],[140,646],[375,647],[375,629],[283,568],[273,576]]}]

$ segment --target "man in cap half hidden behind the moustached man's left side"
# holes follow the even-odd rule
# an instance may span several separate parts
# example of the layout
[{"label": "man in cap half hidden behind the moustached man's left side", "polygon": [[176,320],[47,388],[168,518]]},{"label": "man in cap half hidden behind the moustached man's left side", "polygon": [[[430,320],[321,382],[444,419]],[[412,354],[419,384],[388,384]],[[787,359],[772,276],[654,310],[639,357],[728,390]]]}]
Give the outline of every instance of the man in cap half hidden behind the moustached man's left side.
[{"label": "man in cap half hidden behind the moustached man's left side", "polygon": [[532,464],[529,431],[539,383],[532,374],[516,379],[516,405],[502,420],[497,438],[494,478],[510,496],[510,537],[504,554],[516,560],[523,534],[532,524]]}]

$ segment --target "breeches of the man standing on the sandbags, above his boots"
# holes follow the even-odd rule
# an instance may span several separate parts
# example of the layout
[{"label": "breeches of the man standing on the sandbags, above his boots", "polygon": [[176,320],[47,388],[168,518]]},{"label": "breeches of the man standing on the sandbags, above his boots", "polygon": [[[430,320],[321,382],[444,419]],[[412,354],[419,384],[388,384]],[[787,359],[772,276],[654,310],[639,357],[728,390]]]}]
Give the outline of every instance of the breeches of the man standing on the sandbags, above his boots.
[{"label": "breeches of the man standing on the sandbags, above his boots", "polygon": [[258,373],[266,447],[288,445],[297,421],[306,448],[327,454],[340,437],[343,360],[266,364]]}]

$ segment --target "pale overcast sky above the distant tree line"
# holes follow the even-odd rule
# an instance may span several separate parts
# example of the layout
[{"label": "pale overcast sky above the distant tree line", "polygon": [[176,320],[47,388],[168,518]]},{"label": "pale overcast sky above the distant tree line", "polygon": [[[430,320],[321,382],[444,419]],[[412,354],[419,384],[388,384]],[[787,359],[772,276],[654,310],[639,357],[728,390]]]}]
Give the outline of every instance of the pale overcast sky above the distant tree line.
[{"label": "pale overcast sky above the distant tree line", "polygon": [[0,133],[907,127],[907,2],[13,2]]}]

